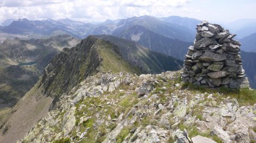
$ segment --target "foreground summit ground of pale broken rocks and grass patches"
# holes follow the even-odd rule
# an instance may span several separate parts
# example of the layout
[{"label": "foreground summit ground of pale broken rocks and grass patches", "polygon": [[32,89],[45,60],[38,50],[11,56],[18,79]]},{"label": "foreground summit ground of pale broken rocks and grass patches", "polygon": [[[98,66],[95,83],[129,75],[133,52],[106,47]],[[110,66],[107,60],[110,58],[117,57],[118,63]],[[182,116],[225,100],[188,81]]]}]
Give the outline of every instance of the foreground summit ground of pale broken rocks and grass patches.
[{"label": "foreground summit ground of pale broken rocks and grass patches", "polygon": [[184,89],[180,71],[97,73],[61,95],[20,142],[255,141],[256,105],[230,96]]}]

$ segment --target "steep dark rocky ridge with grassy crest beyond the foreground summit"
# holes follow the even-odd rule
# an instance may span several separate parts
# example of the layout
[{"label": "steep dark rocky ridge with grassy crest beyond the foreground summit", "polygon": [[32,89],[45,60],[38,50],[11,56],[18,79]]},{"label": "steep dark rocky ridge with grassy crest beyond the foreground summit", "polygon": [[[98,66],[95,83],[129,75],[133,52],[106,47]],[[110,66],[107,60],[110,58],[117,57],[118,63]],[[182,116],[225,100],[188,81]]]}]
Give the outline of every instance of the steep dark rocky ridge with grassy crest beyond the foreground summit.
[{"label": "steep dark rocky ridge with grassy crest beyond the foreground summit", "polygon": [[[77,84],[98,72],[159,73],[180,67],[180,60],[129,44],[129,41],[118,44],[122,47],[95,36],[88,36],[75,47],[64,48],[55,55],[34,88],[13,109],[0,115],[0,141],[9,143],[19,140],[32,124],[46,115],[46,112],[40,110],[55,110],[63,94],[69,94]],[[138,59],[139,62],[136,62]],[[163,68],[163,63],[160,63],[162,60],[166,60],[164,64],[171,66]],[[112,85],[107,86],[109,89],[111,87]],[[28,106],[31,109],[27,109]]]}]

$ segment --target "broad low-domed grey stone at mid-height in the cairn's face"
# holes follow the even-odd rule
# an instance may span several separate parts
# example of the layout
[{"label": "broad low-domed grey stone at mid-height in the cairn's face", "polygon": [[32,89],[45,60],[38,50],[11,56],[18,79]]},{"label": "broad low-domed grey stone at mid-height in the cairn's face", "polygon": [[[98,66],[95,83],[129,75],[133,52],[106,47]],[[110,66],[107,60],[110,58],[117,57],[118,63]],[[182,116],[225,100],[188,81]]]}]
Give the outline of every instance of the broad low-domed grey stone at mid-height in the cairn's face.
[{"label": "broad low-domed grey stone at mid-height in the cairn's face", "polygon": [[218,62],[218,61],[226,60],[226,56],[223,54],[213,53],[212,51],[205,51],[205,53],[201,55],[199,59],[205,62]]}]

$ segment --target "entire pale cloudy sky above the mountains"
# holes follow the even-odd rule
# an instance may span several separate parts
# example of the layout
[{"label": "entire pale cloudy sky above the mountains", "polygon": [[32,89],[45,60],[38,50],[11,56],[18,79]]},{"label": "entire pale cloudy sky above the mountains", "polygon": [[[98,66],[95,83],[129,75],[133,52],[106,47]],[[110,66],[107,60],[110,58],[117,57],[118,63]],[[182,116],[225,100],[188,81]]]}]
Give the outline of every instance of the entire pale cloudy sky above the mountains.
[{"label": "entire pale cloudy sky above the mountains", "polygon": [[151,15],[228,23],[256,19],[255,0],[0,0],[5,19],[74,19],[85,22]]}]

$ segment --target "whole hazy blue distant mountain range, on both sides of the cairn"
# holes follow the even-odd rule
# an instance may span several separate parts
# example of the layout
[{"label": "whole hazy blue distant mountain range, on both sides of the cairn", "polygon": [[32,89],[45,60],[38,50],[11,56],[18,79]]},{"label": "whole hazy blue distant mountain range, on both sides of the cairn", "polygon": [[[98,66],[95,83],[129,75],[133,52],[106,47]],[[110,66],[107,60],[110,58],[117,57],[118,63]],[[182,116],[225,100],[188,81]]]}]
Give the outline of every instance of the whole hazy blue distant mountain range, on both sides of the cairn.
[{"label": "whole hazy blue distant mountain range, on both sides of the cairn", "polygon": [[[0,35],[3,34],[1,37],[26,36],[24,38],[28,38],[31,35],[42,37],[68,33],[75,37],[84,38],[91,34],[108,34],[137,42],[137,44],[152,51],[183,60],[188,46],[193,45],[196,24],[199,22],[200,20],[197,19],[181,18],[179,16],[167,18],[140,16],[128,19],[106,20],[101,24],[82,23],[81,21],[70,19],[36,21],[19,19],[8,26],[0,27],[2,29],[0,31],[7,33],[6,35],[6,33],[0,32]],[[250,25],[253,25],[254,22],[255,20],[238,20],[230,23],[228,29],[239,31],[239,29],[246,27],[250,28]],[[248,32],[253,31],[254,29],[251,28]],[[239,32],[235,34],[238,35],[238,38],[246,35]],[[255,51],[255,34],[251,34],[239,41],[241,41],[242,50]]]}]

